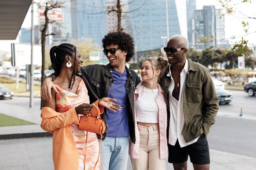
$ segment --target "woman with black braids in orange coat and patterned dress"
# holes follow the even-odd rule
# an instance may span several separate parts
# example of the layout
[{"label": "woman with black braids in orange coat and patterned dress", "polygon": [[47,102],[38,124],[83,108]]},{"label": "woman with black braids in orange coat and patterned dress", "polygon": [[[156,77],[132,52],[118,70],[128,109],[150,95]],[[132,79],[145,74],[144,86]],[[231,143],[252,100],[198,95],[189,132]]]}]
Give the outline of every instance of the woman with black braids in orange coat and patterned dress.
[{"label": "woman with black braids in orange coat and patterned dress", "polygon": [[92,107],[119,110],[115,99],[98,99],[88,80],[79,74],[83,61],[72,44],[60,44],[50,50],[52,68],[56,73],[58,93],[52,90],[52,100],[44,101],[41,127],[53,133],[55,170],[100,170],[99,140],[93,132],[79,129],[80,116],[91,113]]}]

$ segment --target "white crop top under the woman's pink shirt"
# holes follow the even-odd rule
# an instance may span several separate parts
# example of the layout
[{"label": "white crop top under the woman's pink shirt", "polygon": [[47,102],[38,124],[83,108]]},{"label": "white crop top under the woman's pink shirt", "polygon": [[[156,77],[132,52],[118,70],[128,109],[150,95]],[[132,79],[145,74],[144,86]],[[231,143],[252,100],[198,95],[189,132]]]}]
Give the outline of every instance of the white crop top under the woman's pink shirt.
[{"label": "white crop top under the woman's pink shirt", "polygon": [[143,123],[159,123],[156,98],[159,89],[149,89],[141,86],[139,97],[135,103],[137,121]]}]

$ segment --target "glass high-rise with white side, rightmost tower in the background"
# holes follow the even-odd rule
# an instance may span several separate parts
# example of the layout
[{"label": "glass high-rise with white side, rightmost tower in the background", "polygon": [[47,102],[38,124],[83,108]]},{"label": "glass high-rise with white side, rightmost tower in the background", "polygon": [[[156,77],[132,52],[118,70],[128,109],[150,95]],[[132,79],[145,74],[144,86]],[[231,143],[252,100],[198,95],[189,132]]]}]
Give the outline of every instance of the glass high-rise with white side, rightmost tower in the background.
[{"label": "glass high-rise with white side, rightmost tower in the background", "polygon": [[226,48],[228,42],[225,41],[225,18],[222,16],[222,9],[215,9],[215,6],[204,6],[203,9],[195,11],[195,42],[201,37],[213,36],[213,41],[195,43],[196,49]]}]

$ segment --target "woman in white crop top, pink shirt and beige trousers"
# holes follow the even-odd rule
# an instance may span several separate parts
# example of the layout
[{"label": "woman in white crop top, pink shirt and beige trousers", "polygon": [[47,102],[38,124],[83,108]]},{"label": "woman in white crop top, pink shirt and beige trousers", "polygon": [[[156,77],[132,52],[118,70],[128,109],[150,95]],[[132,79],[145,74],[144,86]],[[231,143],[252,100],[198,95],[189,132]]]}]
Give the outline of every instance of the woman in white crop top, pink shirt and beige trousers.
[{"label": "woman in white crop top, pink shirt and beige trousers", "polygon": [[166,170],[168,155],[167,110],[162,87],[158,84],[168,64],[163,57],[150,57],[141,66],[135,90],[135,137],[129,154],[133,170]]}]

